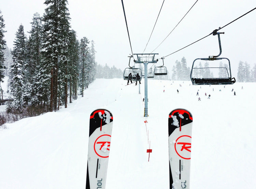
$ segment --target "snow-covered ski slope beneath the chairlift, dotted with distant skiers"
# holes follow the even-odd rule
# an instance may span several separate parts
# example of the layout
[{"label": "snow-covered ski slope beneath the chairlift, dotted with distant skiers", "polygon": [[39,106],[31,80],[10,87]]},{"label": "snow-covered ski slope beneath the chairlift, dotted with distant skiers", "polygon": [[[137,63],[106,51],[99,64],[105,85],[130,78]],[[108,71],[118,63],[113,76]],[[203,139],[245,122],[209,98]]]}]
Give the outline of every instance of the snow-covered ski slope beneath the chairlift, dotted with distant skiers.
[{"label": "snow-covered ski slope beneath the chairlift, dotted with distant skiers", "polygon": [[141,95],[139,85],[126,82],[97,79],[68,108],[0,129],[0,188],[84,189],[89,117],[97,108],[114,118],[106,189],[169,189],[168,114],[175,108],[194,118],[191,189],[256,186],[256,83],[200,88],[189,81],[148,80],[147,136],[144,80]]}]

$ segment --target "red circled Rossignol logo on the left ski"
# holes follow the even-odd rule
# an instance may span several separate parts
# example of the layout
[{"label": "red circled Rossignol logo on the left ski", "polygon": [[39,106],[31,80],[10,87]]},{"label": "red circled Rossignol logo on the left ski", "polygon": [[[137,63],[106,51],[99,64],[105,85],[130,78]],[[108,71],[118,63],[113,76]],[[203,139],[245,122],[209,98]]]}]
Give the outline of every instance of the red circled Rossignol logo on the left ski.
[{"label": "red circled Rossignol logo on the left ski", "polygon": [[94,142],[94,151],[99,157],[109,157],[110,135],[101,135]]}]

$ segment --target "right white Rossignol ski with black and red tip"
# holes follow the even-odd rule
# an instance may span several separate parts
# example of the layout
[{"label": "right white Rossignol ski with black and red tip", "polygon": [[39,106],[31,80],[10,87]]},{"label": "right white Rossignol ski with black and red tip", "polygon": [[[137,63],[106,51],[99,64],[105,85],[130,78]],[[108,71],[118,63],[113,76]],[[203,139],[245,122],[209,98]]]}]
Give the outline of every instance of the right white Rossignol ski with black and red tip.
[{"label": "right white Rossignol ski with black and red tip", "polygon": [[192,122],[186,109],[174,109],[169,114],[170,189],[189,189]]}]

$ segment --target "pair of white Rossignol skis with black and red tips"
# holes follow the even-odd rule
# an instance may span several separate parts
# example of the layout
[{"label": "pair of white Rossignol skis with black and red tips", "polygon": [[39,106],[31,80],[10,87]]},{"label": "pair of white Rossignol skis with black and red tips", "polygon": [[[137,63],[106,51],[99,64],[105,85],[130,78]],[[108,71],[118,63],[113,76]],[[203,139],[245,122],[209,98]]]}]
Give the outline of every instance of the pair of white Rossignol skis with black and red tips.
[{"label": "pair of white Rossignol skis with black and red tips", "polygon": [[[170,189],[189,189],[192,122],[186,109],[169,114]],[[109,110],[97,109],[90,115],[86,189],[105,188],[112,124]]]}]

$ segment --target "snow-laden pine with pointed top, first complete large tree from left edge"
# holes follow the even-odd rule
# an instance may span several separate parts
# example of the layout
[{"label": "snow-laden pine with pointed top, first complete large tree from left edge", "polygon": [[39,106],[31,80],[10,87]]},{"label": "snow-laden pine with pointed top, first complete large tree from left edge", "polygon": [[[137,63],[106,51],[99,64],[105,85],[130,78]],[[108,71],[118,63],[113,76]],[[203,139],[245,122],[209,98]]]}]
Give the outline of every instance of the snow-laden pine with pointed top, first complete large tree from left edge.
[{"label": "snow-laden pine with pointed top, first complete large tree from left edge", "polygon": [[12,108],[17,112],[23,110],[23,79],[24,64],[26,58],[26,36],[23,25],[21,24],[16,32],[14,47],[12,51],[13,64],[11,65],[11,92],[13,95]]}]

